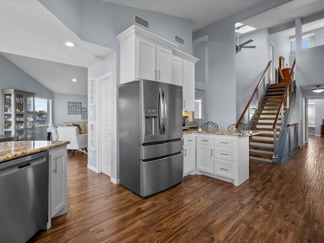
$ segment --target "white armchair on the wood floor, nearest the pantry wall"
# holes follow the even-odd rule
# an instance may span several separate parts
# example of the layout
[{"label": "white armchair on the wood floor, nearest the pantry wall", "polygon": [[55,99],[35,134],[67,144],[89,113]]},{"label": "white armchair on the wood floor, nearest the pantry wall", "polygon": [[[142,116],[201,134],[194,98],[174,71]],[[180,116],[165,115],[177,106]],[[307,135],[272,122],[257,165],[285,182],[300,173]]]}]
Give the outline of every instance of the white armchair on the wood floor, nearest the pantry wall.
[{"label": "white armchair on the wood floor, nearest the pantry wall", "polygon": [[[70,141],[67,144],[67,149],[72,151],[74,154],[74,150],[84,149],[88,152],[88,134],[80,134],[79,129],[77,127],[58,127],[57,133],[59,135],[59,141]],[[71,152],[69,151],[69,152]]]}]

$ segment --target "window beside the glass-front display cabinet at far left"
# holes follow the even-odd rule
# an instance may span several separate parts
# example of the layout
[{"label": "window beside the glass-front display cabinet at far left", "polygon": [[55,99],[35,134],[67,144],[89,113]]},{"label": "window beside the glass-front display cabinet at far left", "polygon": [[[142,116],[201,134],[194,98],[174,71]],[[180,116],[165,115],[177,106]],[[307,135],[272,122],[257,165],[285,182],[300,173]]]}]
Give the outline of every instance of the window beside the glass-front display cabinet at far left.
[{"label": "window beside the glass-front display cabinet at far left", "polygon": [[35,127],[51,123],[51,100],[35,97]]}]

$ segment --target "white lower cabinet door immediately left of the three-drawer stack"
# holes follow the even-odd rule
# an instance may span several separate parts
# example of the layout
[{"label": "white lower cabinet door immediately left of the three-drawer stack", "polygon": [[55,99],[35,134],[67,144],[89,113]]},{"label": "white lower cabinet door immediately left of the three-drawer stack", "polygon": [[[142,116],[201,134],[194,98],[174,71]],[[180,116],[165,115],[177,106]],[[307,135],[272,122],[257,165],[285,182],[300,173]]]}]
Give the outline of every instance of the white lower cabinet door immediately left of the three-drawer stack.
[{"label": "white lower cabinet door immediately left of the three-drawer stack", "polygon": [[197,170],[214,173],[214,147],[197,144]]}]

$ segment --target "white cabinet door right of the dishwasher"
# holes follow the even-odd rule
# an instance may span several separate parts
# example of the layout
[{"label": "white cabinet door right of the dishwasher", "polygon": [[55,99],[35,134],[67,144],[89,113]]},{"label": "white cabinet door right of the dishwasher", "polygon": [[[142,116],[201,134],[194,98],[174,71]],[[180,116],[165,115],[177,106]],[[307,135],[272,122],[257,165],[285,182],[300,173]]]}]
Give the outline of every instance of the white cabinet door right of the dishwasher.
[{"label": "white cabinet door right of the dishwasher", "polygon": [[66,146],[62,150],[50,150],[50,203],[51,218],[66,205]]}]

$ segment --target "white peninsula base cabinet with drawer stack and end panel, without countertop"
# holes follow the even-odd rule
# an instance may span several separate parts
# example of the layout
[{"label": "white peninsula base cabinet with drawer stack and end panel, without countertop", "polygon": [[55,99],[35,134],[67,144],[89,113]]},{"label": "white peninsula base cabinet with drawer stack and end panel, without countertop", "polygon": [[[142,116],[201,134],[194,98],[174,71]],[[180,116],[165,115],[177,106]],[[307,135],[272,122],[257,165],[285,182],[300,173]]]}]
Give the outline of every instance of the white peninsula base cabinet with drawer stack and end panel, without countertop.
[{"label": "white peninsula base cabinet with drawer stack and end panel, without countertop", "polygon": [[[192,135],[194,134],[190,134],[191,140]],[[220,134],[195,134],[195,136],[195,174],[231,182],[235,186],[249,179],[249,136]],[[184,144],[185,138],[186,135]]]}]

